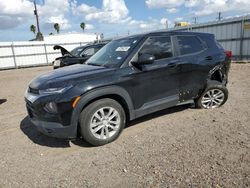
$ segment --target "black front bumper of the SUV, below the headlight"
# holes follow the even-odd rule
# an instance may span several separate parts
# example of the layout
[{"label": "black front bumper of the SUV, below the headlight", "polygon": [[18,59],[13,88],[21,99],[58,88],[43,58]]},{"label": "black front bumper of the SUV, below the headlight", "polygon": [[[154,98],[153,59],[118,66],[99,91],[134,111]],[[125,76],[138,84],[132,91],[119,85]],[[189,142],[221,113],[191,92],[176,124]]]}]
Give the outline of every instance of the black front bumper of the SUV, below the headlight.
[{"label": "black front bumper of the SUV, below the headlight", "polygon": [[36,94],[25,94],[26,108],[31,122],[39,132],[45,135],[73,139],[77,137],[77,125],[71,123],[71,102],[58,103],[58,113],[51,114],[44,110],[46,101],[55,101],[52,96],[39,96]]}]

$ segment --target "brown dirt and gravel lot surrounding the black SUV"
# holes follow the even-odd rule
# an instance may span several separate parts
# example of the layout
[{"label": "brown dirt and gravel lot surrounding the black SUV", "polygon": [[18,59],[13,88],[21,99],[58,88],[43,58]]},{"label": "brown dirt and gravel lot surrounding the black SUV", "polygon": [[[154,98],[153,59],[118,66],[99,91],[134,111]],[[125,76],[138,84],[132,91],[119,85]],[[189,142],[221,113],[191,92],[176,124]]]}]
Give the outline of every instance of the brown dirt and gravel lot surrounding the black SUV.
[{"label": "brown dirt and gravel lot surrounding the black SUV", "polygon": [[232,65],[223,107],[164,110],[102,147],[49,138],[30,123],[24,91],[50,69],[0,71],[0,187],[250,186],[250,64]]}]

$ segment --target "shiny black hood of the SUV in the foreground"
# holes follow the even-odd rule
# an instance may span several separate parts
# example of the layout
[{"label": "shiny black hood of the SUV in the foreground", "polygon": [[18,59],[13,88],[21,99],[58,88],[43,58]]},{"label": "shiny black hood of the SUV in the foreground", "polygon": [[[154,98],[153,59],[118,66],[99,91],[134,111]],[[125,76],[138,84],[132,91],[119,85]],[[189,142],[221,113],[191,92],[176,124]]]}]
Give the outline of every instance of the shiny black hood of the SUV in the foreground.
[{"label": "shiny black hood of the SUV in the foreground", "polygon": [[29,87],[33,89],[65,87],[93,79],[94,77],[102,77],[112,70],[114,69],[85,64],[72,65],[50,71],[34,78]]}]

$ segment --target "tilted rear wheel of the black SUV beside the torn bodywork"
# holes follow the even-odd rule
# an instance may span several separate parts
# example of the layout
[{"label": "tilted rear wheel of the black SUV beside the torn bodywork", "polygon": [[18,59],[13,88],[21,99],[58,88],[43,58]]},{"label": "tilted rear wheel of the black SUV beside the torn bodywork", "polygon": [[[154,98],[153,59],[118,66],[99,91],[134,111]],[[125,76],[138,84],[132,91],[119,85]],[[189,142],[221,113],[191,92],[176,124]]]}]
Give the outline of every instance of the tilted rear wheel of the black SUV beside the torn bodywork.
[{"label": "tilted rear wheel of the black SUV beside the torn bodywork", "polygon": [[211,81],[201,96],[195,100],[197,108],[218,108],[225,104],[228,99],[227,88],[218,81]]}]

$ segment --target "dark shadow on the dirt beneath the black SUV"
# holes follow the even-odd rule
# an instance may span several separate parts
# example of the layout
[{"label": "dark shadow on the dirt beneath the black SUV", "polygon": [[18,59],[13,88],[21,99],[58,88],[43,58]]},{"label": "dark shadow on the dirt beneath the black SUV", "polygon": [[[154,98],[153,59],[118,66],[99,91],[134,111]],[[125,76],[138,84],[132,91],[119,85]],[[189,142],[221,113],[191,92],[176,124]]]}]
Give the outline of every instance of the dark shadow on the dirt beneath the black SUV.
[{"label": "dark shadow on the dirt beneath the black SUV", "polygon": [[[176,106],[168,109],[164,109],[146,116],[143,116],[141,118],[138,118],[136,120],[130,121],[127,123],[125,128],[132,127],[138,123],[142,123],[145,121],[152,120],[154,118],[167,115],[167,114],[172,114],[176,112],[183,111],[185,109],[190,108],[190,104],[187,105],[182,105],[182,106]],[[80,147],[94,147],[87,142],[85,142],[81,138],[77,138],[75,140],[64,140],[64,139],[57,139],[57,138],[52,138],[48,137],[42,133],[40,133],[37,128],[32,124],[30,121],[29,117],[26,116],[20,123],[20,129],[22,132],[35,144],[41,145],[41,146],[47,146],[47,147],[56,147],[56,148],[66,148],[70,147],[70,142],[73,144],[80,146]]]}]

